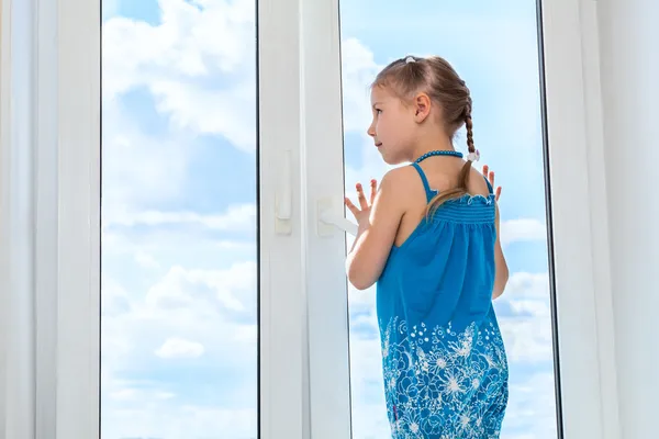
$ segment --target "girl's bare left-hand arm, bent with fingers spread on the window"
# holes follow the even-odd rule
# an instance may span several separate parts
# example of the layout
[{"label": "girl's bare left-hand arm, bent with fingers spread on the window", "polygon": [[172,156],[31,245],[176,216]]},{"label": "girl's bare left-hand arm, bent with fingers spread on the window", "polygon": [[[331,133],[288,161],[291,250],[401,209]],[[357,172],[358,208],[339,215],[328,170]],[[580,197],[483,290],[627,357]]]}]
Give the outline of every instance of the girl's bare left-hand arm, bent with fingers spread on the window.
[{"label": "girl's bare left-hand arm, bent with fingers spread on the window", "polygon": [[404,214],[400,193],[402,168],[389,171],[376,192],[371,181],[371,202],[367,202],[361,184],[357,184],[359,207],[346,199],[346,205],[359,224],[357,237],[346,259],[348,280],[357,290],[366,290],[380,278]]}]

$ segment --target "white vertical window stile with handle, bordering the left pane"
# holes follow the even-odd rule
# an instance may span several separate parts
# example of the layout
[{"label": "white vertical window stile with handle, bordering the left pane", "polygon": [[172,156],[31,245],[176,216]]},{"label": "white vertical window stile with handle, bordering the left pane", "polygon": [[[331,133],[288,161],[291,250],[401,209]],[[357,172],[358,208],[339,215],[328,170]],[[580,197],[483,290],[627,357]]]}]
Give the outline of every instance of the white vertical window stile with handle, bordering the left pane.
[{"label": "white vertical window stile with handle, bordering the left pane", "polygon": [[300,2],[259,0],[259,428],[309,438],[300,198]]}]

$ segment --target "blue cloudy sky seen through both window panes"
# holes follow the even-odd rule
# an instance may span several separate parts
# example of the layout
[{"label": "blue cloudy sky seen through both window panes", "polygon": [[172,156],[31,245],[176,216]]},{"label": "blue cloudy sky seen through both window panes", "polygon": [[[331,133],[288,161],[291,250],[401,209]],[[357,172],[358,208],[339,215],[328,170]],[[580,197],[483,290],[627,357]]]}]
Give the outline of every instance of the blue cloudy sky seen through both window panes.
[{"label": "blue cloudy sky seen through both window panes", "polygon": [[[346,188],[388,169],[366,135],[386,64],[440,55],[471,89],[503,185],[505,439],[556,438],[535,8],[340,4]],[[102,439],[256,437],[254,16],[245,0],[103,2]],[[354,438],[386,438],[375,292],[348,293]]]}]

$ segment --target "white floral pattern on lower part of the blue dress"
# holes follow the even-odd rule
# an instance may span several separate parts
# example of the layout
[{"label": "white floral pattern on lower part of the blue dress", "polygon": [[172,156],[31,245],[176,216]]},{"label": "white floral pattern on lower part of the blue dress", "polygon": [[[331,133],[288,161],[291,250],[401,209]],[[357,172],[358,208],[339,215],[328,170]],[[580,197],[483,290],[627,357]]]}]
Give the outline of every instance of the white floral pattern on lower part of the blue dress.
[{"label": "white floral pattern on lower part of the blue dress", "polygon": [[498,439],[507,404],[507,360],[491,319],[461,331],[382,328],[387,412],[394,439]]}]

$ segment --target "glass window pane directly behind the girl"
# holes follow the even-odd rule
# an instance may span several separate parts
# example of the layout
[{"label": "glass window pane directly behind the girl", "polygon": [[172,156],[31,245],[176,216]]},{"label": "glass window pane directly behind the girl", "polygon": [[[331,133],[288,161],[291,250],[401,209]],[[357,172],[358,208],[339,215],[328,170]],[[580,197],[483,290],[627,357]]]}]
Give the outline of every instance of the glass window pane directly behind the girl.
[{"label": "glass window pane directly behind the girl", "polygon": [[[501,437],[517,439],[557,437],[536,14],[535,0],[340,4],[346,194],[353,200],[356,182],[368,188],[390,169],[367,135],[369,85],[381,68],[405,55],[439,55],[471,90],[479,169],[489,165],[503,185],[501,238],[511,277],[494,301],[510,368]],[[455,146],[467,154],[465,128]],[[390,437],[375,288],[349,289],[354,437]]]}]

